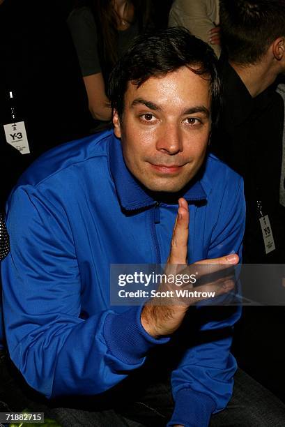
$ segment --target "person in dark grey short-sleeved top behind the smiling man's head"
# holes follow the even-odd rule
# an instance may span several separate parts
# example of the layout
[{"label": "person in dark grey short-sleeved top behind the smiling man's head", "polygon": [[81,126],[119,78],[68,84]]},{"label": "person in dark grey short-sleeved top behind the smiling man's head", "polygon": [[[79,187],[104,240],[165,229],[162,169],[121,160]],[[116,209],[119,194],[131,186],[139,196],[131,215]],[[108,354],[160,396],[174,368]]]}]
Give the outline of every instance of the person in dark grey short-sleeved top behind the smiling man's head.
[{"label": "person in dark grey short-sleeved top behind the smiling man's head", "polygon": [[89,110],[98,130],[108,126],[111,107],[106,87],[114,64],[133,38],[151,27],[151,0],[75,1],[68,17]]}]

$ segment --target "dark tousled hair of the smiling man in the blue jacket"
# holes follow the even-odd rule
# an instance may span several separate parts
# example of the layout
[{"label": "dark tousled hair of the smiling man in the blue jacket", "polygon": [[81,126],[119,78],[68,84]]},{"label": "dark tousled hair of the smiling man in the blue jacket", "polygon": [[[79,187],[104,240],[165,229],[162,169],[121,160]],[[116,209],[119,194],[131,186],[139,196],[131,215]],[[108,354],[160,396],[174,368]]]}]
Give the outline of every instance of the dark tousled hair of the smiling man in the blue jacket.
[{"label": "dark tousled hair of the smiling man in the blue jacket", "polygon": [[139,87],[149,77],[159,77],[187,66],[193,73],[206,76],[212,96],[212,123],[217,123],[221,85],[217,57],[213,49],[183,27],[145,33],[119,59],[107,87],[111,107],[123,116],[124,96],[128,82]]}]

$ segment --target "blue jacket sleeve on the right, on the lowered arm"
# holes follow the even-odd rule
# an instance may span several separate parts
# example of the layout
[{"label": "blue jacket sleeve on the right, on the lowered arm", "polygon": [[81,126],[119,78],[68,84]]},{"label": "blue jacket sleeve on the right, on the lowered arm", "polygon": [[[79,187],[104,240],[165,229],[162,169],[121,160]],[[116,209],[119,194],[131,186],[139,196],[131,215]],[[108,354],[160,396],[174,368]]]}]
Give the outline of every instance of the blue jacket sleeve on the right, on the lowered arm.
[{"label": "blue jacket sleeve on the right, on the lowered arm", "polygon": [[[245,229],[243,181],[224,192],[207,258],[238,253]],[[206,427],[212,413],[226,407],[233,389],[236,360],[230,353],[233,324],[240,307],[197,306],[199,340],[172,373],[175,409],[169,426]]]}]

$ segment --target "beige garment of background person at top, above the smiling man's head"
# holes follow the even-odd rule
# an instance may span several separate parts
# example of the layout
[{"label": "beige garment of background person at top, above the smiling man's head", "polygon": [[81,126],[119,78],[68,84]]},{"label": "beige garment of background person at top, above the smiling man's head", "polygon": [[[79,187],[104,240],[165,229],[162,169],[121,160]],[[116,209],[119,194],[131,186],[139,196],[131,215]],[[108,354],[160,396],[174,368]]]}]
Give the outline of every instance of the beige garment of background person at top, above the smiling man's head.
[{"label": "beige garment of background person at top, above the smiling man's head", "polygon": [[169,13],[169,27],[187,28],[194,36],[213,47],[219,57],[221,48],[217,18],[216,0],[176,0]]}]

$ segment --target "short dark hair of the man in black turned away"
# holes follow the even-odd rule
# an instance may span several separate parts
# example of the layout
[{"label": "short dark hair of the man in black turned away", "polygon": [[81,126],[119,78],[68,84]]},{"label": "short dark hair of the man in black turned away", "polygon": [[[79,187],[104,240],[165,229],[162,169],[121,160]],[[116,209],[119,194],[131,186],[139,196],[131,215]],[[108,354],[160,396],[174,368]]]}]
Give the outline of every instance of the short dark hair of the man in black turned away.
[{"label": "short dark hair of the man in black turned away", "polygon": [[285,0],[221,0],[219,17],[222,42],[235,63],[258,63],[285,35]]}]

